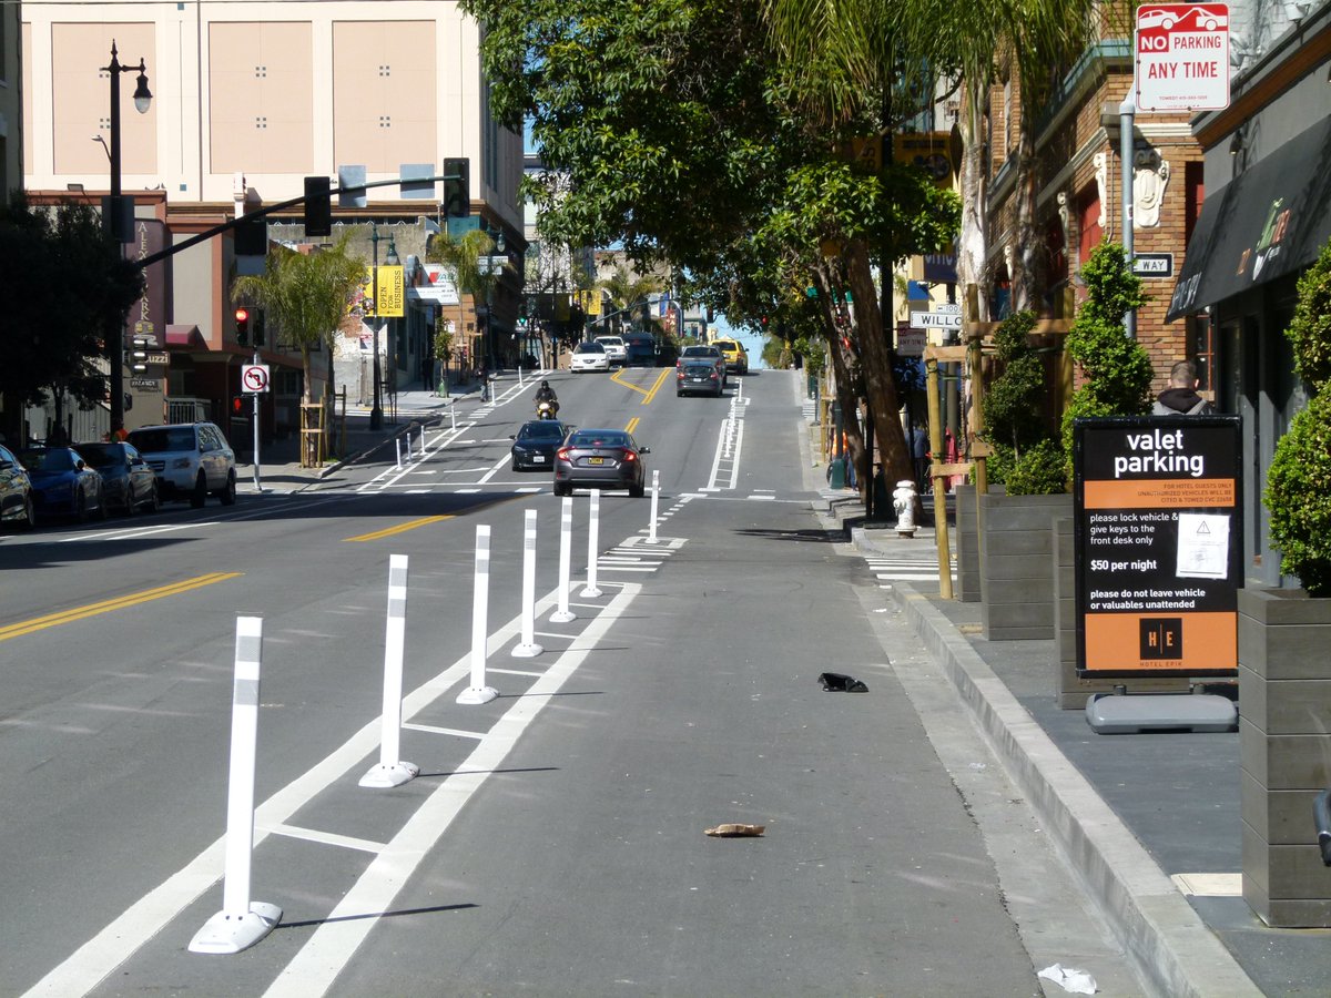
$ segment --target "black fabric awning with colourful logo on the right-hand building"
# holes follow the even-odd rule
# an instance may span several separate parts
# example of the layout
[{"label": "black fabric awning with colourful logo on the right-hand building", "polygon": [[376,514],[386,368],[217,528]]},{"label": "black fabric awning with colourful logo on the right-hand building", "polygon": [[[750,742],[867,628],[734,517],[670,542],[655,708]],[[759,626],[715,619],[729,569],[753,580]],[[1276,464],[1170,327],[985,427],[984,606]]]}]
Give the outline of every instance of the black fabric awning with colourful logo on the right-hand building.
[{"label": "black fabric awning with colourful logo on the right-hand building", "polygon": [[1302,270],[1331,240],[1331,117],[1202,204],[1166,322]]}]

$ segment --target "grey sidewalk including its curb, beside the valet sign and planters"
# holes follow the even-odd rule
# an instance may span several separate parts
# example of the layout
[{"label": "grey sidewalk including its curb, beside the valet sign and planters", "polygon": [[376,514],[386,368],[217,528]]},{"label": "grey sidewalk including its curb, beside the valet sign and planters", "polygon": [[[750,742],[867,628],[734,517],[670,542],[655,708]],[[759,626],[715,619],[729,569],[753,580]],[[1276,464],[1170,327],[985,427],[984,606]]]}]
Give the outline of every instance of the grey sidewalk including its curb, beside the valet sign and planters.
[{"label": "grey sidewalk including its curb, beside the valet sign and planters", "polygon": [[[936,558],[932,526],[901,538],[890,523],[866,526],[853,494],[823,496],[866,556]],[[980,603],[920,583],[892,583],[884,599],[942,665],[1158,994],[1331,994],[1331,930],[1267,927],[1240,896],[1236,732],[1097,735],[1085,712],[1057,705],[1053,639],[985,640]]]}]

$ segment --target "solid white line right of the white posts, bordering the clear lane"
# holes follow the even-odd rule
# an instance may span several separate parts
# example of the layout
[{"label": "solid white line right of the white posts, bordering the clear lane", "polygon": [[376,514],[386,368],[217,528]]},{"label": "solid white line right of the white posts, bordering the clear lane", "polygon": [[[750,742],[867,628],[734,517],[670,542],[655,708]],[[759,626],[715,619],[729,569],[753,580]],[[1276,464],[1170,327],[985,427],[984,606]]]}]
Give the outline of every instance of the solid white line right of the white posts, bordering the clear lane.
[{"label": "solid white line right of the white posts, bordering the clear lane", "polygon": [[[587,625],[584,635],[592,645],[606,636],[635,595],[636,592],[627,589],[620,592]],[[518,739],[586,657],[586,653],[568,649],[523,696],[515,699],[514,705],[495,723],[491,736],[476,745],[466,762],[417,808],[402,830],[375,856],[301,951],[282,969],[277,981],[265,991],[266,998],[310,998],[325,994],[333,986],[333,981],[379,921],[365,917],[365,913],[393,910],[393,901],[406,886],[411,873],[439,842],[473,794],[500,768]]]}]

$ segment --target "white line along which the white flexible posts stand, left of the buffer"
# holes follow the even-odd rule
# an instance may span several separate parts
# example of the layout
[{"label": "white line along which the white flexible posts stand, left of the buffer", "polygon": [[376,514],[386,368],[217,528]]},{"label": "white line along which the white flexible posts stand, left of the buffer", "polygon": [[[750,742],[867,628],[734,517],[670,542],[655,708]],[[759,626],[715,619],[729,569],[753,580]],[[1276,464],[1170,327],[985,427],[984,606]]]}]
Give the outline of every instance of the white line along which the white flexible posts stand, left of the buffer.
[{"label": "white line along which the white flexible posts stand, left of the buffer", "polygon": [[[615,600],[624,604],[640,587],[624,584]],[[536,612],[548,612],[556,605],[558,591],[551,591],[536,604]],[[583,604],[586,605],[586,604]],[[612,601],[611,605],[615,605]],[[602,609],[600,607],[591,607]],[[606,612],[610,611],[607,605]],[[618,616],[618,612],[615,613]],[[604,613],[591,617],[587,627],[578,635],[583,635],[596,628],[595,635],[600,637],[608,623],[602,623]],[[487,641],[491,655],[496,653],[506,641],[518,636],[522,625],[522,615],[516,615],[507,624],[500,627]],[[574,645],[578,643],[575,641]],[[570,649],[572,651],[572,648]],[[570,652],[564,652],[568,655]],[[563,660],[563,656],[555,663]],[[578,659],[582,661],[582,659]],[[554,667],[551,667],[554,669]],[[450,688],[471,675],[470,649],[453,665],[426,680],[402,700],[403,719],[411,719],[429,708],[435,700],[447,693]],[[546,673],[550,675],[548,672]],[[524,700],[524,697],[519,697]],[[494,731],[494,729],[491,729]],[[314,766],[274,793],[254,810],[254,848],[257,849],[269,836],[268,829],[282,826],[301,808],[306,806],[315,796],[326,790],[338,780],[346,778],[353,769],[361,769],[365,758],[373,754],[379,747],[382,733],[382,719],[374,717],[359,731],[351,735],[345,743],[335,748]],[[484,741],[482,743],[484,744]],[[449,786],[446,781],[439,789]],[[438,790],[435,792],[438,794]],[[461,802],[459,802],[461,806]],[[419,812],[418,812],[419,813]],[[442,829],[441,829],[442,832]],[[395,840],[394,840],[395,841]],[[397,854],[390,849],[390,856]],[[53,998],[75,998],[75,995],[88,994],[116,967],[129,959],[149,939],[160,933],[168,922],[178,917],[180,913],[194,904],[204,892],[216,885],[224,872],[226,856],[226,837],[222,836],[188,862],[182,869],[173,873],[153,890],[130,905],[101,931],[88,942],[75,950],[63,963],[53,967],[45,977],[33,985],[25,995],[53,995]],[[379,854],[383,858],[385,853]],[[370,910],[370,909],[366,909]],[[374,910],[387,910],[379,908]]]}]

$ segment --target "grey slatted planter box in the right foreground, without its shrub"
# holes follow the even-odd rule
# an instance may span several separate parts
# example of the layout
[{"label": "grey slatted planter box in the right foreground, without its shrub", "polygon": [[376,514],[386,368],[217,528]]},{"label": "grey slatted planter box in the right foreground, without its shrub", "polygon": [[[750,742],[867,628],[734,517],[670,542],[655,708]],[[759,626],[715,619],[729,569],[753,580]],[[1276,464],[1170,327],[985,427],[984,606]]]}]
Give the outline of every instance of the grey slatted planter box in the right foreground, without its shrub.
[{"label": "grey slatted planter box in the right foreground, without its shrub", "polygon": [[1267,925],[1331,927],[1312,798],[1331,786],[1331,599],[1239,589],[1243,898]]}]

